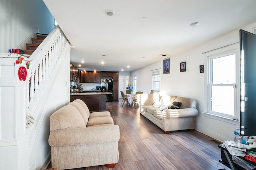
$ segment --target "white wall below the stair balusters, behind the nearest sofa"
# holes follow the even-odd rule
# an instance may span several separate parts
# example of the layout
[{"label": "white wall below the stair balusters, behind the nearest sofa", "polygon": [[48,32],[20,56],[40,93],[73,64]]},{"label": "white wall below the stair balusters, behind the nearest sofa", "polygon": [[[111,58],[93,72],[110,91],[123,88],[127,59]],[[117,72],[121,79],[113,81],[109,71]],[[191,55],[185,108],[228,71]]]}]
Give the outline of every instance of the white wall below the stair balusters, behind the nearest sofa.
[{"label": "white wall below the stair balusters, behind the nearest sofa", "polygon": [[[34,113],[35,124],[27,131],[29,135],[30,170],[45,169],[50,161],[51,147],[48,144],[50,134],[50,115],[70,102],[70,47],[66,45],[54,73],[48,81],[50,86],[45,97]],[[67,85],[65,82],[68,82]]]}]

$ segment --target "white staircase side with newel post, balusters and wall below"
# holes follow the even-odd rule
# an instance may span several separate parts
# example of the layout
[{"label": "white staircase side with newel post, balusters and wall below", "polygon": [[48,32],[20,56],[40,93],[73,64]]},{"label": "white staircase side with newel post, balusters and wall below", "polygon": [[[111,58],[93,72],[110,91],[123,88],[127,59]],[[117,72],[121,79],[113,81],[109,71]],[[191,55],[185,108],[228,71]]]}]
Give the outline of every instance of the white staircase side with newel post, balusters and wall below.
[{"label": "white staircase side with newel post, balusters and wall below", "polygon": [[[70,44],[58,26],[29,58],[0,54],[0,169],[46,168],[50,114],[69,102],[69,65]],[[26,126],[28,115],[34,123]]]}]

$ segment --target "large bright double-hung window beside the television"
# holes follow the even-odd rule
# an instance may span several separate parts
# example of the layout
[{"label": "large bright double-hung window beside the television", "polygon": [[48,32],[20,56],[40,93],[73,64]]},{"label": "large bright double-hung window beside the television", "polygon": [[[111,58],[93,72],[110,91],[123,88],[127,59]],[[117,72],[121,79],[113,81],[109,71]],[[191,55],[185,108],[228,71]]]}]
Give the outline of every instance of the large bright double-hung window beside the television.
[{"label": "large bright double-hung window beside the television", "polygon": [[216,51],[218,54],[208,55],[207,112],[230,119],[240,117],[240,66],[237,49],[222,53]]}]

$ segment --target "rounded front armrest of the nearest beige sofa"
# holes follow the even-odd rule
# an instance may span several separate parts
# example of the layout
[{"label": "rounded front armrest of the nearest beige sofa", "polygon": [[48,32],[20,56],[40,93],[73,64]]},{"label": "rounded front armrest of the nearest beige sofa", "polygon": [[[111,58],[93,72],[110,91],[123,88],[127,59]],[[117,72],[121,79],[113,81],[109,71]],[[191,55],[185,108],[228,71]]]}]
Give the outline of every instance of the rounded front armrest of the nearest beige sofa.
[{"label": "rounded front armrest of the nearest beige sofa", "polygon": [[119,141],[118,125],[99,127],[70,127],[50,132],[49,145],[54,147],[70,145],[88,145]]}]

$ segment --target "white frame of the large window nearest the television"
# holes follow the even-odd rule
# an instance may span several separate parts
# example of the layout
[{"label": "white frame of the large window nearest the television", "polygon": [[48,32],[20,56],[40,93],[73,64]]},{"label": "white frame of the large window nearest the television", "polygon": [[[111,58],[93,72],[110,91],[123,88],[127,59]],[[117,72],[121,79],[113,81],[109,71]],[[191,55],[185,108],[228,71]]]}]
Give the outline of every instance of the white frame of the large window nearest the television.
[{"label": "white frame of the large window nearest the television", "polygon": [[[239,43],[230,45],[227,47],[222,47],[205,54],[205,86],[204,86],[204,111],[209,115],[214,115],[217,117],[222,117],[226,119],[240,120],[240,53],[239,53]],[[234,116],[227,115],[224,113],[218,113],[211,111],[211,75],[212,70],[210,66],[210,60],[218,57],[224,57],[228,55],[236,55],[236,83],[235,84],[223,84],[223,86],[234,86]],[[221,85],[220,85],[221,86]]]}]

